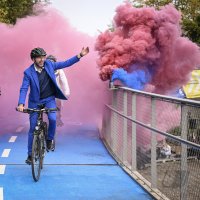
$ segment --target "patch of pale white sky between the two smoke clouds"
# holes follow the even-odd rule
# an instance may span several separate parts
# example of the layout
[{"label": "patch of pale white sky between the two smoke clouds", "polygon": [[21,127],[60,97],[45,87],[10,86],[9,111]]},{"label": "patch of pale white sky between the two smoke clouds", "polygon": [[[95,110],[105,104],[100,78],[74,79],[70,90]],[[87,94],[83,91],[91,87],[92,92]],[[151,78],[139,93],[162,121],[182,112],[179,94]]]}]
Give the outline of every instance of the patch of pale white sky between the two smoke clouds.
[{"label": "patch of pale white sky between the two smoke clouds", "polygon": [[123,0],[52,0],[55,7],[69,20],[78,31],[98,35],[112,23],[115,9]]}]

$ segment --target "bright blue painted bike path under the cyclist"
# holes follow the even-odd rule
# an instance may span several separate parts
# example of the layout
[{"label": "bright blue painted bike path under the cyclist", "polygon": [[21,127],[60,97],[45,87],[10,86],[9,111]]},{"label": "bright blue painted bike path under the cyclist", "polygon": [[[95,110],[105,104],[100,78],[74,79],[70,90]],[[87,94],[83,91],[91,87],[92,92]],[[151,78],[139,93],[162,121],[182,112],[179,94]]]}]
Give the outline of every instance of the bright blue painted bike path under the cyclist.
[{"label": "bright blue painted bike path under the cyclist", "polygon": [[[8,142],[17,136],[15,142]],[[56,150],[46,154],[39,182],[26,159],[27,134],[0,135],[0,199],[3,200],[147,200],[152,197],[113,160],[91,125],[65,126],[56,135]],[[1,170],[0,170],[1,171]]]}]

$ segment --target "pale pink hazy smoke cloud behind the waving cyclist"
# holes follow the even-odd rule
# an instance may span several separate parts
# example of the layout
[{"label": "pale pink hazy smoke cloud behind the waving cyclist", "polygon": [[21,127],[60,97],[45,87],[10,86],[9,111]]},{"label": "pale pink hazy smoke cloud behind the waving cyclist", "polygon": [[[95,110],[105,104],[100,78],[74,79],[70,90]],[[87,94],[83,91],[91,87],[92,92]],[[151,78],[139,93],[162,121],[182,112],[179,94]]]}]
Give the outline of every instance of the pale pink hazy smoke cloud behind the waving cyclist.
[{"label": "pale pink hazy smoke cloud behind the waving cyclist", "polygon": [[71,121],[91,123],[101,119],[106,86],[98,78],[97,55],[93,50],[95,38],[78,32],[54,9],[47,9],[39,16],[20,19],[15,26],[1,23],[0,38],[1,127],[11,130],[28,121],[28,115],[16,112],[15,107],[23,71],[32,64],[30,51],[38,46],[58,60],[70,58],[78,54],[83,46],[89,46],[90,53],[86,57],[65,69],[71,96],[64,102],[62,116]]}]

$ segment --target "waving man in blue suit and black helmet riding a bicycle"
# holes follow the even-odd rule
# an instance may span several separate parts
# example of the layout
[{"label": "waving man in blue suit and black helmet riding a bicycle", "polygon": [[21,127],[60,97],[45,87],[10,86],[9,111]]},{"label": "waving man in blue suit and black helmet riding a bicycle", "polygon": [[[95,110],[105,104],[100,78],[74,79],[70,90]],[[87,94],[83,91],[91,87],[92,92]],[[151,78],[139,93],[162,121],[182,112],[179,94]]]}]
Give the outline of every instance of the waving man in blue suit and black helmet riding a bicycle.
[{"label": "waving man in blue suit and black helmet riding a bicycle", "polygon": [[[81,57],[89,53],[89,48],[82,48],[81,52],[64,61],[51,62],[46,60],[46,52],[42,48],[34,48],[31,53],[33,64],[24,71],[24,78],[20,88],[20,95],[17,110],[23,112],[26,95],[30,87],[28,107],[38,108],[39,105],[44,105],[47,108],[56,108],[55,98],[67,100],[56,83],[54,71],[69,67],[80,60]],[[33,143],[33,132],[37,123],[37,113],[31,113],[29,116],[30,129],[28,133],[28,157],[25,161],[31,163],[31,152]],[[49,128],[47,137],[47,149],[51,149],[52,140],[54,139],[56,130],[56,113],[48,113]]]}]

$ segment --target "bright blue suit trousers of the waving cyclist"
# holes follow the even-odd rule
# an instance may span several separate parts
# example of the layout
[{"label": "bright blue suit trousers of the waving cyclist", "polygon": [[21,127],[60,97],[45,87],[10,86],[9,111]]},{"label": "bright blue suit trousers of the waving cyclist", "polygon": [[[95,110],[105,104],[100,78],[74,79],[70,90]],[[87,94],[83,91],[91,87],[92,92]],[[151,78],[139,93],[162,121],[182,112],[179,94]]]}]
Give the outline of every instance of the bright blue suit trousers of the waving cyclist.
[{"label": "bright blue suit trousers of the waving cyclist", "polygon": [[[56,108],[55,97],[48,97],[46,99],[42,99],[37,103],[31,102],[31,108],[38,108],[38,104],[43,104],[46,108]],[[30,107],[30,106],[29,106]],[[35,130],[35,126],[37,124],[37,113],[31,113],[29,115],[30,121],[30,129],[28,132],[28,155],[32,153],[32,144],[33,144],[33,132]],[[55,131],[56,131],[56,112],[48,113],[49,127],[48,127],[48,140],[53,140]]]}]

